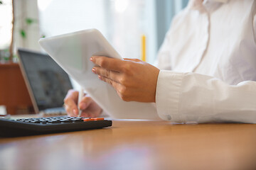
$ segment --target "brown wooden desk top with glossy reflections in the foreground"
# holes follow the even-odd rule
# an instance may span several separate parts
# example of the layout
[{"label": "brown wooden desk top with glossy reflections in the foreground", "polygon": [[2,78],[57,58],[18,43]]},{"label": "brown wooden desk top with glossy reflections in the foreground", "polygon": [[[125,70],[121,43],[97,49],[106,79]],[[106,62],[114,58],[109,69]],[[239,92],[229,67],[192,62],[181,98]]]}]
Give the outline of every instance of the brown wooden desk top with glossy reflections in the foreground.
[{"label": "brown wooden desk top with glossy reflections in the foreground", "polygon": [[256,169],[256,125],[113,121],[0,139],[0,169]]}]

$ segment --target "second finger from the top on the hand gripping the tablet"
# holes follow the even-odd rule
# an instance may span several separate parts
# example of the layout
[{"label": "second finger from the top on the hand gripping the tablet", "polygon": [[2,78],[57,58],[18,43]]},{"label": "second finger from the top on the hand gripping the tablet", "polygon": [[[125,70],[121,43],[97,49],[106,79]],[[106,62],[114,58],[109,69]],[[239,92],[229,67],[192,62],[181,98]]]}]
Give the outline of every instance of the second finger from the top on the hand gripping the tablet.
[{"label": "second finger from the top on the hand gripping the tablet", "polygon": [[119,83],[119,72],[112,71],[110,69],[104,69],[102,67],[93,67],[92,72],[99,74],[102,77],[107,77],[107,79],[112,79]]}]

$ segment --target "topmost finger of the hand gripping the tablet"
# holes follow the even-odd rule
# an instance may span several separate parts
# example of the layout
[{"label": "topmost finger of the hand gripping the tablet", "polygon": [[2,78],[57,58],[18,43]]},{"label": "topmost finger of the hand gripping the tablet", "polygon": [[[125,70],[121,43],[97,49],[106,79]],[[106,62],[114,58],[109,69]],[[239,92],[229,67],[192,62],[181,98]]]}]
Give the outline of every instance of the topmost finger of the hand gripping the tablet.
[{"label": "topmost finger of the hand gripping the tablet", "polygon": [[122,65],[124,64],[124,60],[119,60],[105,56],[92,56],[90,60],[100,67],[110,69],[116,72],[122,71]]}]

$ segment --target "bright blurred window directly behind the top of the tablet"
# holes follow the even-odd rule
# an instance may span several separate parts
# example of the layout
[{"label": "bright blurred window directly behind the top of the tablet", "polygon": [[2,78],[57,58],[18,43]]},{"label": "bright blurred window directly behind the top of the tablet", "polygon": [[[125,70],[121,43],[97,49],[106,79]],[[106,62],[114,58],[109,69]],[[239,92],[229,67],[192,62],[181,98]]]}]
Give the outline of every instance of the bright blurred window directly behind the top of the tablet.
[{"label": "bright blurred window directly behind the top of the tablet", "polygon": [[156,56],[154,0],[38,0],[41,34],[97,28],[122,57],[140,58],[146,35],[147,61]]}]

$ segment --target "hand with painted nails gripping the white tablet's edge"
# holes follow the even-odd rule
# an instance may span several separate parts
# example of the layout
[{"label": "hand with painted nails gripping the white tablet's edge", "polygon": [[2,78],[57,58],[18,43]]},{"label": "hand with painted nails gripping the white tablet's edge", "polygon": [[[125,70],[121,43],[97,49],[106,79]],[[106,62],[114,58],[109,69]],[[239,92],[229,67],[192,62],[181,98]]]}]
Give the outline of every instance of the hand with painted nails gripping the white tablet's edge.
[{"label": "hand with painted nails gripping the white tablet's edge", "polygon": [[138,59],[92,56],[92,72],[112,85],[123,101],[155,102],[159,69]]}]

